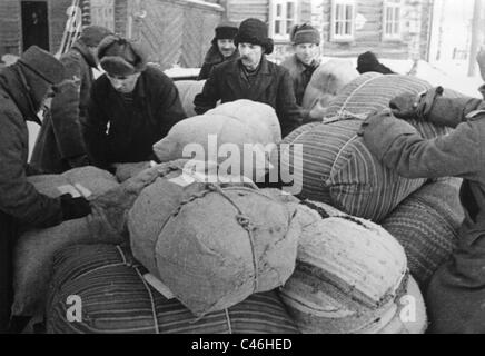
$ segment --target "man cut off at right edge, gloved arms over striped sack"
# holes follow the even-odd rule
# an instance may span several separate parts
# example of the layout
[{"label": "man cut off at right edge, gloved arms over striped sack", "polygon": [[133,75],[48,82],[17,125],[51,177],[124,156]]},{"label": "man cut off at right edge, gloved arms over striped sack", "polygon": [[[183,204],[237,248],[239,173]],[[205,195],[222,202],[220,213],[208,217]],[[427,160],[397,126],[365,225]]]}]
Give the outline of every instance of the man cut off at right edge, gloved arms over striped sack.
[{"label": "man cut off at right edge, gloved arms over striped sack", "polygon": [[433,277],[427,308],[434,333],[485,333],[485,102],[447,99],[442,90],[422,98],[404,95],[390,102],[394,116],[420,118],[455,130],[424,139],[390,112],[370,116],[362,135],[369,150],[408,178],[464,178],[465,220],[458,248]]}]

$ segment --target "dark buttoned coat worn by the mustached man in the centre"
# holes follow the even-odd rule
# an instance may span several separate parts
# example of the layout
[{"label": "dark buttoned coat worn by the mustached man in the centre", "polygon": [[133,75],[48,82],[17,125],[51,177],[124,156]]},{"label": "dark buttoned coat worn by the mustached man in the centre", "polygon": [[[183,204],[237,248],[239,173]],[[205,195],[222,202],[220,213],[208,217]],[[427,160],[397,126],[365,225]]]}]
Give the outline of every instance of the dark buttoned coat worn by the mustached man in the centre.
[{"label": "dark buttoned coat worn by the mustached man in the centre", "polygon": [[283,136],[287,136],[301,125],[301,108],[296,103],[288,70],[265,57],[253,83],[246,79],[240,59],[216,66],[194,103],[196,112],[202,115],[214,109],[218,100],[225,103],[239,99],[273,107],[278,116]]}]

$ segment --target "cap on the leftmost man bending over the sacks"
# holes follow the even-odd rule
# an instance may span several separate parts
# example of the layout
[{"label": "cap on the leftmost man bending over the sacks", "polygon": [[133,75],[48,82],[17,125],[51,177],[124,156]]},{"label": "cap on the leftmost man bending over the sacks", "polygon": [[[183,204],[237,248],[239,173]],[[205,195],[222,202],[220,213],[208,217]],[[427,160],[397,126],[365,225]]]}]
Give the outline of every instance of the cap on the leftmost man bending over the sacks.
[{"label": "cap on the leftmost man bending over the sacks", "polygon": [[61,82],[65,76],[65,66],[51,53],[37,46],[29,47],[18,62],[50,85]]}]

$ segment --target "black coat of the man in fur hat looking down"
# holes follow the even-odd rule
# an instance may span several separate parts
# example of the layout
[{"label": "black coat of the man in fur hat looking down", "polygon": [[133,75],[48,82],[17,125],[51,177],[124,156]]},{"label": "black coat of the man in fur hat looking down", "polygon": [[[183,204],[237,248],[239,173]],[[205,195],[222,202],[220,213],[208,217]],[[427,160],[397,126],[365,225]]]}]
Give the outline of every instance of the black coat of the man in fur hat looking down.
[{"label": "black coat of the man in fur hat looking down", "polygon": [[88,105],[85,140],[89,158],[103,169],[154,160],[154,144],[186,117],[174,81],[154,67],[141,72],[131,105],[101,76]]}]

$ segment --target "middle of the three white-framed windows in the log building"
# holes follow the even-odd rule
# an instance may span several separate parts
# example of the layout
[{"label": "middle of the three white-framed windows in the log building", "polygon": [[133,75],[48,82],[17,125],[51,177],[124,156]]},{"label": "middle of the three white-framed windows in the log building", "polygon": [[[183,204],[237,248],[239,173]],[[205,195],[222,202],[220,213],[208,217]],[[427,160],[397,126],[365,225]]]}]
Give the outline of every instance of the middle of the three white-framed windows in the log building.
[{"label": "middle of the three white-framed windows in the log building", "polygon": [[331,1],[331,40],[352,41],[355,37],[355,0]]}]

